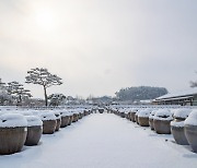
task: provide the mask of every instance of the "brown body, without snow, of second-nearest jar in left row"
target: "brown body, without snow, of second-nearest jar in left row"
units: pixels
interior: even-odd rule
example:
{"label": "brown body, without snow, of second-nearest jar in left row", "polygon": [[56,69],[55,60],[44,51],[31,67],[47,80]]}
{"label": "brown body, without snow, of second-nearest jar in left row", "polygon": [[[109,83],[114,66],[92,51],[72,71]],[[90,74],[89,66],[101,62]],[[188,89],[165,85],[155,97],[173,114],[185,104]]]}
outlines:
{"label": "brown body, without snow, of second-nearest jar in left row", "polygon": [[27,146],[37,145],[42,137],[42,133],[43,133],[42,125],[27,127],[25,145]]}

